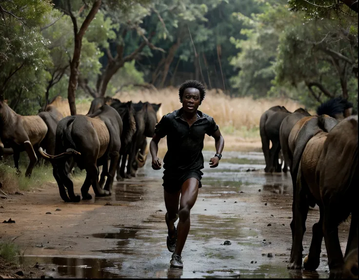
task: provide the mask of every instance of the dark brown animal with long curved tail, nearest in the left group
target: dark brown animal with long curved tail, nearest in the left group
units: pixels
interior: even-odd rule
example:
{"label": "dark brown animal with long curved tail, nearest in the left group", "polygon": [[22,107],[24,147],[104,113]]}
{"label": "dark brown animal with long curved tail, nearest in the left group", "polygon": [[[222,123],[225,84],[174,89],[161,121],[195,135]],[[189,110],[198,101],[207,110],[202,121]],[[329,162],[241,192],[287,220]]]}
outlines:
{"label": "dark brown animal with long curved tail, nearest in the left group", "polygon": [[[63,154],[75,150],[73,158],[77,166],[86,169],[86,179],[81,187],[83,200],[92,199],[88,193],[92,185],[97,197],[110,195],[119,159],[122,133],[122,120],[118,112],[108,105],[103,105],[92,115],[67,116],[60,120],[56,129],[55,153]],[[60,196],[65,202],[79,202],[80,196],[75,195],[73,183],[65,168],[67,158],[42,156],[52,161],[53,175],[58,183]],[[110,167],[108,168],[108,161]],[[99,166],[103,166],[99,183]],[[101,185],[107,180],[104,189]],[[67,188],[67,193],[66,190]]]}

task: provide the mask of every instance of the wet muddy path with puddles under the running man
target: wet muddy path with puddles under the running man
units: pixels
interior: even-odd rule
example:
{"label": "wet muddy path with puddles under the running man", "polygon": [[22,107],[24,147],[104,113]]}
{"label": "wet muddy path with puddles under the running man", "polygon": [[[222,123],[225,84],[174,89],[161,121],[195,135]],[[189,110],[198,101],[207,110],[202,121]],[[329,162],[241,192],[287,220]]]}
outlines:
{"label": "wet muddy path with puddles under the running man", "polygon": [[[315,273],[287,270],[291,247],[290,174],[264,174],[261,152],[227,152],[209,168],[204,151],[202,188],[191,211],[183,270],[170,269],[161,177],[150,160],[137,178],[114,183],[109,198],[65,204],[56,184],[1,201],[2,238],[26,248],[20,262],[39,263],[61,278],[327,278],[324,242]],[[80,183],[76,190],[80,192]],[[50,212],[51,214],[46,214]],[[2,220],[3,220],[2,219]],[[319,209],[309,210],[303,247]],[[177,223],[176,223],[177,224]],[[349,223],[339,227],[342,250]],[[229,245],[223,245],[229,241]]]}

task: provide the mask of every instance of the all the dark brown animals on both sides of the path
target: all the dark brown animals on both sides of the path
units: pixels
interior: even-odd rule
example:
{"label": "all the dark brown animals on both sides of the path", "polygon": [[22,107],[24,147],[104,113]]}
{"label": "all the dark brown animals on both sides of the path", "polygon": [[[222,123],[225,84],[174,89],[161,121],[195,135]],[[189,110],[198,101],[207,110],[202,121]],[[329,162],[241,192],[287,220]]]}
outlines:
{"label": "all the dark brown animals on both sides of the path", "polygon": [[[91,185],[97,197],[111,195],[116,171],[120,181],[135,176],[136,170],[144,165],[146,137],[154,135],[160,106],[99,97],[92,101],[86,115],[61,113],[56,102],[51,102],[36,116],[21,116],[0,101],[0,156],[12,154],[15,168],[20,172],[20,152],[26,151],[30,163],[25,176],[31,176],[38,158],[47,159],[65,202],[80,201],[69,177],[75,165],[86,170],[81,187],[83,200],[92,198],[88,193]],[[260,118],[264,171],[281,172],[281,152],[283,171],[289,167],[292,176],[290,269],[302,268],[302,239],[308,209],[318,205],[320,218],[313,225],[312,242],[303,267],[318,268],[324,237],[331,273],[342,275],[344,267],[346,277],[358,278],[358,115],[352,114],[351,107],[345,99],[335,98],[322,104],[317,109],[318,115],[301,108],[289,112],[283,106],[275,106]],[[338,225],[350,214],[344,261]]]}

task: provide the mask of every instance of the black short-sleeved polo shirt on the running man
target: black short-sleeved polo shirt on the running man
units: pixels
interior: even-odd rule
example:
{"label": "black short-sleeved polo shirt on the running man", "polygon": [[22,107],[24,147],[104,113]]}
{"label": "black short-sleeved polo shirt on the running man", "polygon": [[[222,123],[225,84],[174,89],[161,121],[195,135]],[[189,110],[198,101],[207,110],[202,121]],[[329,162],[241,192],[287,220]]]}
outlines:
{"label": "black short-sleeved polo shirt on the running man", "polygon": [[218,130],[214,119],[197,111],[198,118],[190,127],[181,118],[183,108],[168,113],[156,125],[156,135],[167,135],[167,153],[163,159],[163,168],[173,172],[186,173],[203,168],[204,134],[212,136]]}

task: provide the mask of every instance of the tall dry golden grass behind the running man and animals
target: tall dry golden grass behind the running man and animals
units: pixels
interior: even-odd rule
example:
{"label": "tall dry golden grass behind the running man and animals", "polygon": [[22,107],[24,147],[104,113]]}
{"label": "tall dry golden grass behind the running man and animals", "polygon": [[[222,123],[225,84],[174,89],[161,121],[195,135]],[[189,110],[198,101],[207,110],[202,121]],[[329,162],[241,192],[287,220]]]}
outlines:
{"label": "tall dry golden grass behind the running man and animals", "polygon": [[[145,102],[161,103],[158,118],[166,113],[180,109],[181,104],[178,96],[178,89],[168,87],[162,90],[132,90],[116,93],[114,98],[122,102]],[[78,114],[86,114],[90,109],[92,98],[78,99],[76,108]],[[65,115],[70,115],[67,99],[58,98],[54,103]],[[234,97],[225,95],[221,90],[207,91],[199,110],[212,116],[220,127],[222,134],[233,142],[259,142],[259,119],[263,112],[273,106],[284,106],[288,111],[293,112],[299,107],[304,107],[298,102],[285,98],[260,98]],[[310,112],[314,113],[314,112]],[[232,138],[231,138],[232,137]],[[206,137],[206,141],[209,140]],[[210,140],[211,141],[211,140]],[[227,142],[228,143],[228,142]],[[212,143],[210,144],[212,146]],[[259,145],[259,144],[257,144]]]}

